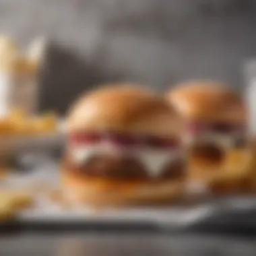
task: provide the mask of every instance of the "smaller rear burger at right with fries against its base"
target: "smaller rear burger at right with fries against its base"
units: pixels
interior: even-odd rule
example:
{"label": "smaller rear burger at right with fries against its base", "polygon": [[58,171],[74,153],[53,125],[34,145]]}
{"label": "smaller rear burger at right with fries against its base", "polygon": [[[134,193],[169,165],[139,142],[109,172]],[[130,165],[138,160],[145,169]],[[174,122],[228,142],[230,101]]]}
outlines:
{"label": "smaller rear burger at right with fries against its base", "polygon": [[197,81],[170,90],[167,100],[184,119],[191,188],[247,191],[251,155],[241,96],[224,84]]}

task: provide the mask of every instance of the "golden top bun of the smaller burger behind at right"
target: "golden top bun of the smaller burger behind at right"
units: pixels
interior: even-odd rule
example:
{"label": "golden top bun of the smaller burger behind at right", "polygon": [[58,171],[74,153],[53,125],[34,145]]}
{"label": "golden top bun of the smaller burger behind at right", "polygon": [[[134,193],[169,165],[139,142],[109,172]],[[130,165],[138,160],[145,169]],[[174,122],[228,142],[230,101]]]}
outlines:
{"label": "golden top bun of the smaller burger behind at right", "polygon": [[242,98],[225,84],[192,81],[179,84],[166,98],[186,119],[245,122],[247,111]]}

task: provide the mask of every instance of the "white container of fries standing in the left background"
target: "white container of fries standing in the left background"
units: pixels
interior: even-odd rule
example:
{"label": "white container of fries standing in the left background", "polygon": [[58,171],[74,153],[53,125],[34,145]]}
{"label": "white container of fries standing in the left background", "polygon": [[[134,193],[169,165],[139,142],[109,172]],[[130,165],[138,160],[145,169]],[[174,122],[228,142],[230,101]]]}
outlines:
{"label": "white container of fries standing in the left background", "polygon": [[28,53],[8,36],[0,38],[0,116],[12,108],[34,115],[38,108],[38,73],[44,56],[41,38],[32,42]]}

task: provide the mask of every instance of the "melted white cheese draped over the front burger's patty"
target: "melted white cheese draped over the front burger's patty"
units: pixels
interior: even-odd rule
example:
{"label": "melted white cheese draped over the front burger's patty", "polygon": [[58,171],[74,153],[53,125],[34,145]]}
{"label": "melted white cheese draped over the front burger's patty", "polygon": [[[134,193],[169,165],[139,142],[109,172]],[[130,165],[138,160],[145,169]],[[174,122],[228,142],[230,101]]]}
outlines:
{"label": "melted white cheese draped over the front burger's patty", "polygon": [[104,143],[80,146],[72,150],[73,160],[78,165],[86,162],[96,154],[129,154],[129,156],[133,156],[135,159],[139,160],[152,177],[158,176],[166,164],[180,157],[177,150],[153,150],[146,147],[125,148],[121,150],[120,148],[115,148],[110,144]]}

